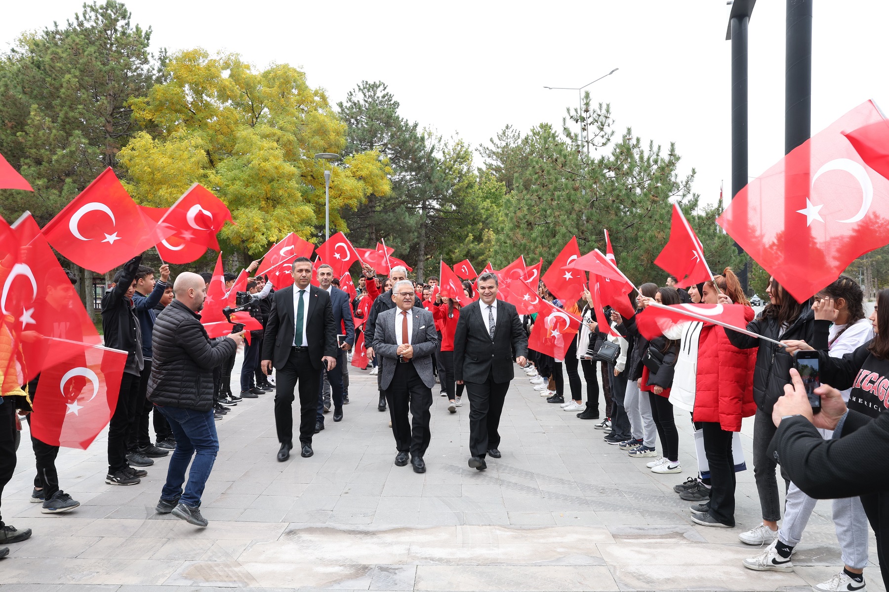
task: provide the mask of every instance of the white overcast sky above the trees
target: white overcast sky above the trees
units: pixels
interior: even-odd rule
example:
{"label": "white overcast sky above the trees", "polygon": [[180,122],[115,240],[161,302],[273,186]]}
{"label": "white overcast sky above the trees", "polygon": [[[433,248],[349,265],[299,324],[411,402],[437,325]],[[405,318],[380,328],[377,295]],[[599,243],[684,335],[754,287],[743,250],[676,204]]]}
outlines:
{"label": "white overcast sky above the trees", "polygon": [[[69,19],[81,2],[8,3],[0,49],[21,31]],[[252,2],[129,0],[155,48],[236,51],[258,67],[289,63],[332,103],[361,80],[382,80],[404,117],[478,146],[507,123],[561,129],[576,87],[611,102],[617,136],[677,143],[683,174],[715,201],[731,185],[730,51],[725,0],[541,2]],[[749,174],[784,146],[784,6],[760,0],[749,36]],[[815,3],[813,133],[866,99],[889,109],[889,3]],[[883,41],[880,41],[880,40]],[[481,160],[477,159],[477,164]]]}

